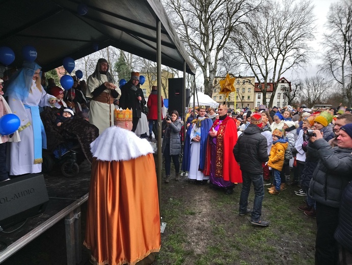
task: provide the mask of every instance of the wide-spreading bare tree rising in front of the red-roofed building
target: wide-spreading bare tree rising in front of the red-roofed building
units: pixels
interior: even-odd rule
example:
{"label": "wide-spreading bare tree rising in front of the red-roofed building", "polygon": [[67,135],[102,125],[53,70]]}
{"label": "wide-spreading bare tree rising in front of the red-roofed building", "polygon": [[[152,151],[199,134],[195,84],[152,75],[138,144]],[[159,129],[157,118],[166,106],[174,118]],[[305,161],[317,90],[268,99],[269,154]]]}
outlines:
{"label": "wide-spreading bare tree rising in front of the red-roofed building", "polygon": [[268,0],[258,12],[248,14],[247,23],[233,32],[233,52],[255,75],[263,93],[263,104],[266,105],[269,79],[274,85],[269,100],[272,106],[282,75],[307,63],[312,51],[307,43],[314,39],[313,23],[313,6],[309,0]]}

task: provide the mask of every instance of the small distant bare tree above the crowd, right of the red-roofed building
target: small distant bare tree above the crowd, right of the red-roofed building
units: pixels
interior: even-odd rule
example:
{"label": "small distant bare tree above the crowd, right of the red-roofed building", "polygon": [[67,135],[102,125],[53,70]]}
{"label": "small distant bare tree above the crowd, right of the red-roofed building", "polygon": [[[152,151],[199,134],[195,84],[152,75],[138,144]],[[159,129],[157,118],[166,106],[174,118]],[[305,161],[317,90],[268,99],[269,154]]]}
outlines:
{"label": "small distant bare tree above the crowd, right of the red-roofed building", "polygon": [[309,108],[315,104],[326,103],[329,98],[331,81],[326,81],[321,75],[306,77],[300,86],[301,101],[306,102]]}

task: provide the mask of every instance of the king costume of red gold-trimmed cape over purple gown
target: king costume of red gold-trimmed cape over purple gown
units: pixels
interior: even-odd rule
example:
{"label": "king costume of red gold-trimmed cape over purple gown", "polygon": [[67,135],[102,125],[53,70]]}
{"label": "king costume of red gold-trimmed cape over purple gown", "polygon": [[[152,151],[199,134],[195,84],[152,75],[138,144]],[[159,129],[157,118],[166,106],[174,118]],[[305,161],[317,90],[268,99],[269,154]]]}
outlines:
{"label": "king costume of red gold-trimmed cape over purple gown", "polygon": [[204,175],[210,182],[222,188],[230,188],[242,182],[241,170],[232,150],[237,142],[236,122],[230,116],[216,119],[210,130],[218,131],[216,137],[208,136]]}

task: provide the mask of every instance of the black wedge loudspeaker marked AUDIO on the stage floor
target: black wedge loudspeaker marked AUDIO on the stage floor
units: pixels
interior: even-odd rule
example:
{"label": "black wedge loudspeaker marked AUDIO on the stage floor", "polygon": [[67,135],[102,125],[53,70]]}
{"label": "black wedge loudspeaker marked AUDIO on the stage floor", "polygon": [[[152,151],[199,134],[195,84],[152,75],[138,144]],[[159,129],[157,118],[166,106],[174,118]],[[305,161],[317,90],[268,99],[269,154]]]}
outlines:
{"label": "black wedge loudspeaker marked AUDIO on the stage floor", "polygon": [[0,226],[7,228],[44,212],[49,201],[42,174],[0,182]]}

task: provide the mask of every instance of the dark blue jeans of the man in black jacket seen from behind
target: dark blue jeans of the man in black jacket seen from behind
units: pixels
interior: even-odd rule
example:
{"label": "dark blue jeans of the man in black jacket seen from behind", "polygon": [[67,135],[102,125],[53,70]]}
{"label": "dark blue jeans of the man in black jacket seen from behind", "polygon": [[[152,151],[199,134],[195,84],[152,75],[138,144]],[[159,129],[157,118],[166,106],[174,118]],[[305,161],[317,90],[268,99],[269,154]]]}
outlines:
{"label": "dark blue jeans of the man in black jacket seen from behind", "polygon": [[242,171],[242,191],[239,198],[239,213],[246,213],[248,205],[248,195],[251,190],[251,183],[254,186],[254,202],[252,211],[252,221],[259,221],[261,216],[261,205],[264,198],[263,174],[251,174]]}

